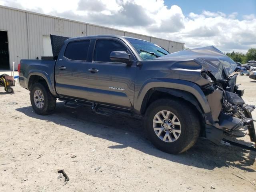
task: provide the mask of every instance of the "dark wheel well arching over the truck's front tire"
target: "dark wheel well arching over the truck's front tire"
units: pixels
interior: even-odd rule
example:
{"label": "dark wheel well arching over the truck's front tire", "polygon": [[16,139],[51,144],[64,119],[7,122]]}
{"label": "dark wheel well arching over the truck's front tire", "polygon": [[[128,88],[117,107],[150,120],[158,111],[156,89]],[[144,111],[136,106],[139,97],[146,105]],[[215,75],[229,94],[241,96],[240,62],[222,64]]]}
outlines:
{"label": "dark wheel well arching over the truck's front tire", "polygon": [[171,88],[152,88],[148,90],[148,92],[146,93],[146,96],[144,97],[144,100],[142,102],[142,107],[140,110],[141,114],[144,115],[148,106],[155,100],[158,100],[161,98],[183,100],[184,102],[186,102],[186,104],[190,106],[198,114],[198,117],[200,118],[200,122],[201,122],[200,135],[204,136],[205,134],[204,112],[198,100],[196,99],[196,97],[189,92],[186,92],[183,90],[171,89]]}

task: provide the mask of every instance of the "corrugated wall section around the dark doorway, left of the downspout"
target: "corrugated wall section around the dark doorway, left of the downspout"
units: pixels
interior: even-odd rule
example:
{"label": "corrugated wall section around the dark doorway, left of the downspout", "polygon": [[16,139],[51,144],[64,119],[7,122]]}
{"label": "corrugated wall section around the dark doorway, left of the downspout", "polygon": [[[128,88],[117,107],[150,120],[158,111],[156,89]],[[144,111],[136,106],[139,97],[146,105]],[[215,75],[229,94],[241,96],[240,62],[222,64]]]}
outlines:
{"label": "corrugated wall section around the dark doorway, left of the downspout", "polygon": [[0,7],[0,30],[7,31],[10,66],[28,58],[26,13]]}

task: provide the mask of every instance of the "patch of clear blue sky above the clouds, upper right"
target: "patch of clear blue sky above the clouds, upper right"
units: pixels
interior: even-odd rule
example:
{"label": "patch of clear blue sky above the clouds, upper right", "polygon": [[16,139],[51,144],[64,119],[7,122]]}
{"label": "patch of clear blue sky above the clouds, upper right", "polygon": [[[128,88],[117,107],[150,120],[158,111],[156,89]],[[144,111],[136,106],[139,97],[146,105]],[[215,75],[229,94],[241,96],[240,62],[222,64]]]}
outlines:
{"label": "patch of clear blue sky above the clouds, upper right", "polygon": [[225,14],[237,12],[237,18],[241,20],[243,15],[256,14],[256,0],[165,0],[164,4],[168,8],[178,5],[185,15],[190,12],[200,14],[204,10]]}

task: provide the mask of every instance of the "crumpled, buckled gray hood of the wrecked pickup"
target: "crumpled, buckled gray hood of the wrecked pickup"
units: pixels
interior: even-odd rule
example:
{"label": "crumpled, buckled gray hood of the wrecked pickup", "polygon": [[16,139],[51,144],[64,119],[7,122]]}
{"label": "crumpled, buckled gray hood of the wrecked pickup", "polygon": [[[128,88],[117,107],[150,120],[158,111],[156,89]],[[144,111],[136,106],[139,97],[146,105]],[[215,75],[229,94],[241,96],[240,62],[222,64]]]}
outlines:
{"label": "crumpled, buckled gray hood of the wrecked pickup", "polygon": [[228,78],[236,69],[237,64],[223,52],[214,46],[201,47],[174,52],[154,60],[194,60],[202,66],[202,70],[208,70],[218,80]]}

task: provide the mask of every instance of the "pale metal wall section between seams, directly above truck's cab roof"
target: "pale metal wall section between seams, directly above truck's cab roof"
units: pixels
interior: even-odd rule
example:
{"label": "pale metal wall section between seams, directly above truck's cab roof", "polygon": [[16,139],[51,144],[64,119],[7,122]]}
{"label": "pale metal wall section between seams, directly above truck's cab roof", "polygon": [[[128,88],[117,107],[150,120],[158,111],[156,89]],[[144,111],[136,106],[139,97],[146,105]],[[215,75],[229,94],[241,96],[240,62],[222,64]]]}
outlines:
{"label": "pale metal wall section between seams, directly above truck's cab roof", "polygon": [[124,32],[99,26],[87,25],[87,35],[120,35],[124,36]]}

